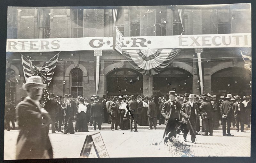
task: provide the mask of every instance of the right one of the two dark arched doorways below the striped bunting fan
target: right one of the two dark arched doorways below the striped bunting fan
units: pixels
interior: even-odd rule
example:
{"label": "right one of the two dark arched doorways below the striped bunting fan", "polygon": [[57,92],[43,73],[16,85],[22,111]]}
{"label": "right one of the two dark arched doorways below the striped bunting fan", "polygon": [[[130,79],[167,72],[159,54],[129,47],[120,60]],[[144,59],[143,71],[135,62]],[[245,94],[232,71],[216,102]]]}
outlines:
{"label": "right one of the two dark arched doorways below the striped bunting fan", "polygon": [[157,97],[167,95],[171,90],[175,90],[177,94],[192,92],[193,76],[184,69],[170,68],[154,75],[153,79],[154,94]]}

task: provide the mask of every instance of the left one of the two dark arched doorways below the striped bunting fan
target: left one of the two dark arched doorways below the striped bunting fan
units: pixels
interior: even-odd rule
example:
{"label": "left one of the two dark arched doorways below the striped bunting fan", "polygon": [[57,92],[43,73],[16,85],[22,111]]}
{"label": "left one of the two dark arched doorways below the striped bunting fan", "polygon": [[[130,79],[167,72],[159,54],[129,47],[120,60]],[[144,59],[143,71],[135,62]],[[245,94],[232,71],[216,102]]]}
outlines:
{"label": "left one of the two dark arched doorways below the striped bunting fan", "polygon": [[121,68],[107,75],[107,95],[141,95],[143,87],[143,76],[139,72]]}

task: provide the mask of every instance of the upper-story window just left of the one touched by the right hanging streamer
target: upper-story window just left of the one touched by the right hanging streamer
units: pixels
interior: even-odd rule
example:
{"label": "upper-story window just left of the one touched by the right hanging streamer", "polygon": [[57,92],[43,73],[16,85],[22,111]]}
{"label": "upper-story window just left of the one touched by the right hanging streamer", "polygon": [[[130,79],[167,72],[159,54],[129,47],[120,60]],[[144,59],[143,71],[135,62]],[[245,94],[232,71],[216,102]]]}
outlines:
{"label": "upper-story window just left of the one touched by the right hanging streamer", "polygon": [[156,36],[166,35],[166,10],[156,10]]}

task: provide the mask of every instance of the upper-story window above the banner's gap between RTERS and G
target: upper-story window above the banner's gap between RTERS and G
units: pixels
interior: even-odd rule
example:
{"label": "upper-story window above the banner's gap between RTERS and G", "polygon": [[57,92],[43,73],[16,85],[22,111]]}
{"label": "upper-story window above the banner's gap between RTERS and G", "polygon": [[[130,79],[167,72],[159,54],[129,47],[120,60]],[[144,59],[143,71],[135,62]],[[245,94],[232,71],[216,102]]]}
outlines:
{"label": "upper-story window above the banner's gap between RTERS and G", "polygon": [[71,37],[83,37],[83,9],[71,10]]}

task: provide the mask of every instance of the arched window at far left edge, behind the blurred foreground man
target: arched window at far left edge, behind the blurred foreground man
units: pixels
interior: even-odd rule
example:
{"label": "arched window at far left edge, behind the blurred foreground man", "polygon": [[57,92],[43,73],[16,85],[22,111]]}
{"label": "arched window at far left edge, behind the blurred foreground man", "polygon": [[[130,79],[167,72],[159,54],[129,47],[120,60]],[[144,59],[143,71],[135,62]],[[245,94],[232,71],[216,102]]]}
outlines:
{"label": "arched window at far left edge, behind the blurred foreground man", "polygon": [[6,69],[5,76],[5,97],[8,97],[11,101],[14,101],[16,95],[14,70]]}

